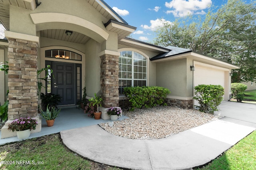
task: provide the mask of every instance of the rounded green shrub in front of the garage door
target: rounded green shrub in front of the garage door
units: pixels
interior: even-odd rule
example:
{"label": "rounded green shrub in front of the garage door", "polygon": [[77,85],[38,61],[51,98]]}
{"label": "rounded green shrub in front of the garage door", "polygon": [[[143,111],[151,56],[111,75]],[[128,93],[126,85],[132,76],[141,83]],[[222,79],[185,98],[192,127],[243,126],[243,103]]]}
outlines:
{"label": "rounded green shrub in front of the garage door", "polygon": [[204,113],[214,113],[218,111],[218,106],[222,101],[224,95],[224,88],[220,85],[205,85],[201,84],[195,86],[195,97],[193,99],[198,100],[200,106],[196,106],[200,111]]}

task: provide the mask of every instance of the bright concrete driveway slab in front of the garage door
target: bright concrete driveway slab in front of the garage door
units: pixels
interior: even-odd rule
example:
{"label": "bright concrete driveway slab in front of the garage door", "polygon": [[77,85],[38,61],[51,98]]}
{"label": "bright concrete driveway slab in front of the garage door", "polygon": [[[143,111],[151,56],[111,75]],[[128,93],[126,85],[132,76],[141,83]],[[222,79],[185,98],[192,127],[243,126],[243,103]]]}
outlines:
{"label": "bright concrete driveway slab in front of the garage door", "polygon": [[[231,121],[241,125],[256,127],[256,105],[238,102],[222,102],[220,113],[225,117],[222,120]],[[244,121],[244,122],[243,122]]]}

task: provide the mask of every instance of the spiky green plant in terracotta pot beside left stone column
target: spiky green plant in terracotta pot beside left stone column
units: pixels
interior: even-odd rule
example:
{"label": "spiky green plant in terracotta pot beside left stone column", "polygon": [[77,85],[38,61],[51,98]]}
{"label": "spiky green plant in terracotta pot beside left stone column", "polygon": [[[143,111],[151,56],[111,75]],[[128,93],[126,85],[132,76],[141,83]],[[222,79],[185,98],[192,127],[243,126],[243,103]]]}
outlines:
{"label": "spiky green plant in terracotta pot beside left stone column", "polygon": [[57,109],[54,106],[49,107],[49,104],[46,107],[46,111],[41,109],[41,116],[46,120],[48,127],[53,126],[55,118],[58,117],[59,113],[60,109]]}

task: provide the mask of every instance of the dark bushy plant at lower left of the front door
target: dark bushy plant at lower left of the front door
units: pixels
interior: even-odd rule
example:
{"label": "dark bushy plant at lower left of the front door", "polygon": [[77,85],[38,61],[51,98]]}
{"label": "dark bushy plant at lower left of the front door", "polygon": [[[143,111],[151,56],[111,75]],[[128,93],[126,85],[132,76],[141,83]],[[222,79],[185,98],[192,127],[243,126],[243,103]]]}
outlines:
{"label": "dark bushy plant at lower left of the front door", "polygon": [[42,110],[46,111],[46,106],[50,107],[56,107],[59,102],[61,102],[61,97],[59,94],[52,94],[52,93],[41,93],[41,99],[42,99]]}

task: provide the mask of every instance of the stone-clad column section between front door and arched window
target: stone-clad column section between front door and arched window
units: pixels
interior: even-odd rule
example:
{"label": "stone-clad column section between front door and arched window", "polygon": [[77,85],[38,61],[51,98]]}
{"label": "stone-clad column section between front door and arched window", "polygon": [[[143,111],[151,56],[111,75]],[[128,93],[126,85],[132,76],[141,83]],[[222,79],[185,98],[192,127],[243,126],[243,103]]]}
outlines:
{"label": "stone-clad column section between front door and arched window", "polygon": [[101,57],[100,86],[103,98],[103,107],[118,106],[118,58],[114,55],[102,55]]}

